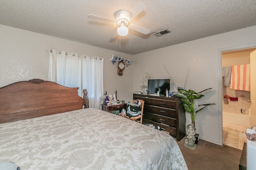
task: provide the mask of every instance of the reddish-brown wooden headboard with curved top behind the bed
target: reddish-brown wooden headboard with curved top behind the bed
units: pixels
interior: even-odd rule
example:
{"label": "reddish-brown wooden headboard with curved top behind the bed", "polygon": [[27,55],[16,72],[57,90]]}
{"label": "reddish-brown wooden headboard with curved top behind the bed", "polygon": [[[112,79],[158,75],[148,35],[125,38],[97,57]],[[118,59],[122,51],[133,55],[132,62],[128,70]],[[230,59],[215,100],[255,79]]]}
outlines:
{"label": "reddish-brown wooden headboard with curved top behind the bed", "polygon": [[33,79],[0,88],[0,123],[82,109],[79,88]]}

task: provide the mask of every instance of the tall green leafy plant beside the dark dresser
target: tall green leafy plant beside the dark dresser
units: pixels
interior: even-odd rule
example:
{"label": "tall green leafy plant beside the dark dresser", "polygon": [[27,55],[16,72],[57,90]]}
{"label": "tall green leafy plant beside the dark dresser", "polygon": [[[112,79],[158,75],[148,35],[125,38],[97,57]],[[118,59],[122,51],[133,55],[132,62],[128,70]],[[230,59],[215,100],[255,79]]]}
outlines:
{"label": "tall green leafy plant beside the dark dresser", "polygon": [[178,96],[181,98],[183,102],[184,109],[187,113],[190,113],[190,117],[192,120],[192,124],[195,126],[195,117],[196,114],[204,109],[207,106],[215,105],[215,104],[200,104],[197,107],[195,107],[195,101],[202,98],[204,95],[202,95],[202,92],[205,92],[206,90],[210,90],[212,88],[205,89],[201,92],[195,92],[194,90],[184,90],[184,89],[178,89],[178,94],[175,94],[175,96]]}

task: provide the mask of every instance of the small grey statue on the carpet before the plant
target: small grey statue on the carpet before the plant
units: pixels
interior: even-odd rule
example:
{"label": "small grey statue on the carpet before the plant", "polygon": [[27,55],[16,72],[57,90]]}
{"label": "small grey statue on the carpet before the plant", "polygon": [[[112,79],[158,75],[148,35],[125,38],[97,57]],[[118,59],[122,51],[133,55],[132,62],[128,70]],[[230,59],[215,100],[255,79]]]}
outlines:
{"label": "small grey statue on the carpet before the plant", "polygon": [[195,144],[196,128],[192,124],[188,124],[187,127],[188,127],[187,139],[185,139],[184,146],[190,149],[196,149],[196,144]]}

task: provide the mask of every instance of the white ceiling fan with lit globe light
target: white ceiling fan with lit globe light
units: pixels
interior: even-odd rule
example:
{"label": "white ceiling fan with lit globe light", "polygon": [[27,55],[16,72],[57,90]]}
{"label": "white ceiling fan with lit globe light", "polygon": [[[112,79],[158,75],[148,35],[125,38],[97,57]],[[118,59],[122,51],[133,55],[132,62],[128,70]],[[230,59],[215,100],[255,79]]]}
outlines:
{"label": "white ceiling fan with lit globe light", "polygon": [[138,25],[134,25],[131,21],[133,18],[138,16],[138,14],[140,14],[145,8],[146,6],[142,2],[137,2],[130,11],[126,11],[126,10],[117,11],[115,13],[116,20],[112,20],[110,18],[105,18],[102,16],[96,16],[92,14],[88,15],[88,18],[115,23],[116,27],[118,28],[117,28],[117,31],[114,30],[110,34],[109,36],[110,38],[116,37],[117,34],[121,36],[126,36],[129,31],[128,28],[146,35],[150,33],[150,29],[147,29]]}

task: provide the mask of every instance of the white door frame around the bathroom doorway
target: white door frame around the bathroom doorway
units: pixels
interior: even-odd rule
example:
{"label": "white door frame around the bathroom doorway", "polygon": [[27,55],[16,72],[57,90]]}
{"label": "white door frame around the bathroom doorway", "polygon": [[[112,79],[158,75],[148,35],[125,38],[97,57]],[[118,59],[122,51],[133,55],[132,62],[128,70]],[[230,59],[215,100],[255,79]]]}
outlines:
{"label": "white door frame around the bathroom doorway", "polygon": [[241,45],[236,47],[229,47],[224,49],[218,49],[218,115],[219,115],[219,144],[223,145],[222,139],[222,52],[225,51],[234,51],[240,49],[248,49],[256,47],[256,43],[248,44],[248,45]]}

